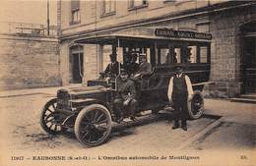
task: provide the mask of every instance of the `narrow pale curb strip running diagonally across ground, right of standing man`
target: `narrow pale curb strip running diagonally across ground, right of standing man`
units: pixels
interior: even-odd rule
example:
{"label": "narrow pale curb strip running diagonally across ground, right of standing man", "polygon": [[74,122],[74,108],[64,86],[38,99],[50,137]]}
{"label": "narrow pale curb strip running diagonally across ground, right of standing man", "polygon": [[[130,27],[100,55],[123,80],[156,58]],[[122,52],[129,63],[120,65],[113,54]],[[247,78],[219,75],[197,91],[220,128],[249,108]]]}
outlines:
{"label": "narrow pale curb strip running diagonally across ground, right of standing man", "polygon": [[219,120],[215,121],[214,123],[207,126],[204,130],[196,134],[194,137],[189,138],[188,140],[184,141],[180,146],[176,148],[176,150],[183,150],[185,147],[187,147],[189,144],[191,144],[193,141],[197,140],[198,138],[203,137],[206,133],[211,131],[213,128],[217,127],[221,124],[223,118],[220,118]]}

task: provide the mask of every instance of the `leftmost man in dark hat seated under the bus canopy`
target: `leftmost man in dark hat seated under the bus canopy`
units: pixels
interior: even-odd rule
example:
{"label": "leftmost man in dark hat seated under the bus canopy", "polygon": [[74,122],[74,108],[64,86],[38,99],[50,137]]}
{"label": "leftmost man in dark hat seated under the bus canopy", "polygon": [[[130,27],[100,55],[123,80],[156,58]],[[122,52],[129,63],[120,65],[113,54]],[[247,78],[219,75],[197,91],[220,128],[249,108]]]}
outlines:
{"label": "leftmost man in dark hat seated under the bus canopy", "polygon": [[119,75],[120,63],[116,61],[115,54],[110,54],[109,58],[111,62],[107,65],[103,74],[105,77],[115,78]]}

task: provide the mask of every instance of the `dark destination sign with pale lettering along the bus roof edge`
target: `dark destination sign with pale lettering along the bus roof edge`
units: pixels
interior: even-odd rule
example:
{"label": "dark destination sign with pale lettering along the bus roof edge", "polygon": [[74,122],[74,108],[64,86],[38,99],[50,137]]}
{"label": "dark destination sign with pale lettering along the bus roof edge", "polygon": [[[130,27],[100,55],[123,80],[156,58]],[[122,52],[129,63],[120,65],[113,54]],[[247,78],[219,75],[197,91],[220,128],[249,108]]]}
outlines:
{"label": "dark destination sign with pale lettering along the bus roof edge", "polygon": [[171,28],[156,28],[155,34],[163,37],[212,39],[212,34],[185,30],[173,30]]}

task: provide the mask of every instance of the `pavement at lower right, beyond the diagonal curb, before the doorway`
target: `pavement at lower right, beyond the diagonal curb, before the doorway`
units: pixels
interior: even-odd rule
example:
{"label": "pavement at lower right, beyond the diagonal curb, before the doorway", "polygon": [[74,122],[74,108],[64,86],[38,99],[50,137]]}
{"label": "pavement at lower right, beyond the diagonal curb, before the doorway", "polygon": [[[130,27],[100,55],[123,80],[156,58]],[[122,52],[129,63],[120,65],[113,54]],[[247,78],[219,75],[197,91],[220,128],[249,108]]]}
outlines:
{"label": "pavement at lower right, beyond the diagonal curb, before the doorway", "polygon": [[255,104],[206,99],[205,109],[206,114],[222,116],[220,124],[185,149],[255,150]]}

